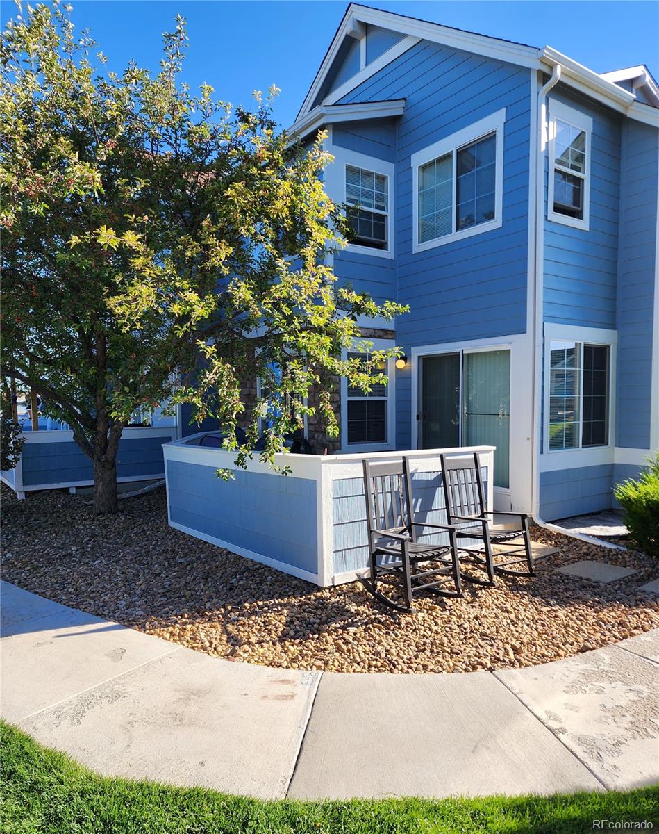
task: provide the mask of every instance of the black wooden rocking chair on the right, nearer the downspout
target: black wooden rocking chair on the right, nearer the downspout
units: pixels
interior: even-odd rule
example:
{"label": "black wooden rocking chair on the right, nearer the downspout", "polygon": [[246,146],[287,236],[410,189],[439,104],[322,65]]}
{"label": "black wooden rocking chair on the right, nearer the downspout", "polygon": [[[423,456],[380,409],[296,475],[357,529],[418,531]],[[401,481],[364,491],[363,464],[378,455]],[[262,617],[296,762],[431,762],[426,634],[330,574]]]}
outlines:
{"label": "black wooden rocking chair on the right, nearer the downspout", "polygon": [[[440,455],[442,460],[442,480],[447,506],[447,521],[450,525],[467,525],[457,527],[456,536],[460,550],[466,551],[473,560],[485,567],[489,582],[494,584],[494,575],[534,576],[531,536],[529,535],[529,516],[526,513],[499,512],[486,510],[483,498],[481,463],[478,453],[473,455]],[[495,515],[512,516],[519,519],[519,525],[508,530],[493,527]],[[471,524],[470,524],[471,522]],[[516,539],[522,537],[523,544]],[[482,549],[464,547],[461,539],[482,542]],[[495,563],[492,545],[505,548],[503,554],[510,561]],[[515,565],[523,565],[515,568]],[[467,579],[466,575],[462,575]]]}

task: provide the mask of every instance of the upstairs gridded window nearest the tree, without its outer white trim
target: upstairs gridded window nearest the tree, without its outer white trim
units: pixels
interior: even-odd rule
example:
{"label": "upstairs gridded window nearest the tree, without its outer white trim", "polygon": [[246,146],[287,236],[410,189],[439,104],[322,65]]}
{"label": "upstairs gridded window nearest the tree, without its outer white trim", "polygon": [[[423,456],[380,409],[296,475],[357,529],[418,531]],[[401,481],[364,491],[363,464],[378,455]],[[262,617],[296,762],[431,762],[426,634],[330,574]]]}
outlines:
{"label": "upstairs gridded window nearest the tree, without its outer white trim", "polygon": [[383,173],[346,165],[346,203],[351,243],[387,249],[389,181]]}

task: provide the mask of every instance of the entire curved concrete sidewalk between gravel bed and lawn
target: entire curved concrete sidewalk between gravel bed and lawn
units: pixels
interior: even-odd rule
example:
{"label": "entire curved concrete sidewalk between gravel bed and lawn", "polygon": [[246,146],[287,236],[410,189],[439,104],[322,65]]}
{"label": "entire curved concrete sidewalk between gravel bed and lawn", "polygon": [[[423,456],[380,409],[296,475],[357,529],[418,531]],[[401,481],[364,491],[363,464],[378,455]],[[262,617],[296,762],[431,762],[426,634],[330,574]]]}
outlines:
{"label": "entire curved concrete sidewalk between gravel bed and lawn", "polygon": [[2,717],[104,774],[304,799],[659,779],[659,630],[528,669],[322,674],[222,661],[0,591]]}

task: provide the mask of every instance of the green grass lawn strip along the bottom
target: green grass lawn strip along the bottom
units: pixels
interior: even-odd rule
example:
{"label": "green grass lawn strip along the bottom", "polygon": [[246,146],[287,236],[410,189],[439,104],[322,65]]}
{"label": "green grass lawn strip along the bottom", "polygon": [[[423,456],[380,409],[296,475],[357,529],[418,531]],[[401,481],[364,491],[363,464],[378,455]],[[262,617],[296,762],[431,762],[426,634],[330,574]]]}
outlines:
{"label": "green grass lawn strip along the bottom", "polygon": [[0,723],[0,739],[0,831],[7,834],[572,834],[593,831],[594,819],[659,826],[657,787],[441,801],[262,802],[97,776],[6,723]]}

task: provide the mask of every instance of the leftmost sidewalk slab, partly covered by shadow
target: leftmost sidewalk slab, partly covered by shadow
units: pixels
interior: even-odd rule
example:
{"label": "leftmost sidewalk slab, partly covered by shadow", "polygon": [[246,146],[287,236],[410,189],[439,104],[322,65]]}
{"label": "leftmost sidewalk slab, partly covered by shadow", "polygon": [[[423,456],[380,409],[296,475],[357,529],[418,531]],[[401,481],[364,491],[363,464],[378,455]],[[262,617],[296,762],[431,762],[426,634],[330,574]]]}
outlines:
{"label": "leftmost sidewalk slab, partly covered by shadow", "polygon": [[19,630],[2,640],[2,716],[7,721],[30,716],[179,648],[82,611],[59,608],[14,624]]}

